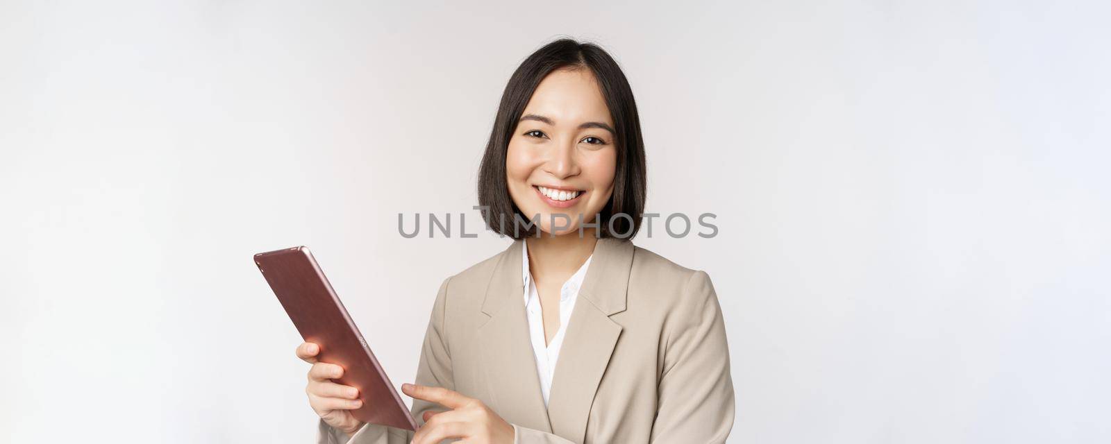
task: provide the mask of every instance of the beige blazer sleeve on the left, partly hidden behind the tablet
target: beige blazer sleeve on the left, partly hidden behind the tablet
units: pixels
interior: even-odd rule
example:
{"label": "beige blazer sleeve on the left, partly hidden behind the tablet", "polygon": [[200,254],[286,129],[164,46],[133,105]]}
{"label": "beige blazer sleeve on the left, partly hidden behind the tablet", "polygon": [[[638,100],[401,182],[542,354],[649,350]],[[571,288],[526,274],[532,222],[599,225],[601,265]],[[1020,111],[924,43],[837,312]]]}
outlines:
{"label": "beige blazer sleeve on the left, partly hidden behind the tablet", "polygon": [[[451,354],[444,336],[444,311],[448,304],[449,281],[451,278],[443,280],[443,283],[440,284],[436,302],[432,304],[432,314],[424,332],[424,344],[421,347],[414,382],[419,385],[456,390],[451,373]],[[413,418],[417,420],[417,425],[424,425],[424,412],[436,407],[438,406],[434,403],[413,400],[411,412]],[[363,424],[349,438],[347,434],[326,424],[323,420],[319,421],[317,434],[318,444],[408,444],[412,438],[412,431],[379,424]]]}

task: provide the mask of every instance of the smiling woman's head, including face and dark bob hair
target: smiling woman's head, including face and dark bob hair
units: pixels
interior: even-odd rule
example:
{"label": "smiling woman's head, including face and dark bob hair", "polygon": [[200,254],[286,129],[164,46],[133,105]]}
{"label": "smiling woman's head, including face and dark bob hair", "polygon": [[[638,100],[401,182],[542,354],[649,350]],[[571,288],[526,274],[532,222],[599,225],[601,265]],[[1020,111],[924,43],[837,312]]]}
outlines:
{"label": "smiling woman's head, including face and dark bob hair", "polygon": [[522,239],[593,221],[599,236],[632,238],[645,182],[637,102],[613,58],[560,40],[521,63],[479,171],[479,204],[491,230]]}

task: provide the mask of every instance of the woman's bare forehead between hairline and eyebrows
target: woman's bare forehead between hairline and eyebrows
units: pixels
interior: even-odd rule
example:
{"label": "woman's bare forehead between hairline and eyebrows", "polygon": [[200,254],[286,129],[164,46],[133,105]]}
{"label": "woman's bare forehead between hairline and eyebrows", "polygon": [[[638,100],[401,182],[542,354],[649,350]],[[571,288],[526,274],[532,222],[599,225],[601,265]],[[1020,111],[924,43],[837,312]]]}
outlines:
{"label": "woman's bare forehead between hairline and eyebrows", "polygon": [[560,69],[540,81],[522,114],[539,114],[557,125],[613,124],[598,79],[589,69]]}

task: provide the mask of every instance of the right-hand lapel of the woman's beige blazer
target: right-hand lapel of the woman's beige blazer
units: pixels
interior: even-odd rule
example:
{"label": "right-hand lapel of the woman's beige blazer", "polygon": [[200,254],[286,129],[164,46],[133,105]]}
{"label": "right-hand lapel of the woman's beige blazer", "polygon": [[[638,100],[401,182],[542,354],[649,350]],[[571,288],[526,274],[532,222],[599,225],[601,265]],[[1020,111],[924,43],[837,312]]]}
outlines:
{"label": "right-hand lapel of the woman's beige blazer", "polygon": [[[598,240],[563,336],[548,397],[548,416],[552,433],[577,443],[585,438],[594,393],[621,335],[621,325],[609,316],[625,310],[632,255],[632,242]],[[520,316],[524,316],[523,307]],[[542,402],[541,397],[541,406]]]}

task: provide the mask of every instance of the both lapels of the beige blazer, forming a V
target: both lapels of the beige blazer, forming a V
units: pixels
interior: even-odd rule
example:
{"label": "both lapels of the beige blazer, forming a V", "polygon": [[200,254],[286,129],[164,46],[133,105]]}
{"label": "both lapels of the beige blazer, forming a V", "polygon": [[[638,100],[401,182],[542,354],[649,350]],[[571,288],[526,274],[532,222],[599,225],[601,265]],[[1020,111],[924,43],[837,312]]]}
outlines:
{"label": "both lapels of the beige blazer, forming a V", "polygon": [[552,387],[544,406],[540,376],[521,297],[521,242],[500,254],[482,300],[490,316],[479,327],[487,393],[498,414],[513,424],[554,433],[572,442],[585,438],[590,406],[622,327],[609,316],[625,310],[633,245],[599,239],[563,336]]}

